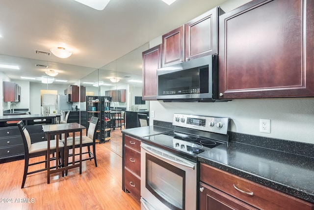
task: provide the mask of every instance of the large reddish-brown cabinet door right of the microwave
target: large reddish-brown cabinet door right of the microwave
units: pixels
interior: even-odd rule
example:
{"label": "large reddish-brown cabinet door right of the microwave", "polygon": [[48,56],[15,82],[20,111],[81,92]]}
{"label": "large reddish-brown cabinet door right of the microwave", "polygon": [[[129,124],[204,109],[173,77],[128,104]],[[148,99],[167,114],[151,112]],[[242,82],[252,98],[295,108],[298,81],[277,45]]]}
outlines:
{"label": "large reddish-brown cabinet door right of the microwave", "polygon": [[220,98],[314,96],[314,1],[253,0],[220,16]]}

